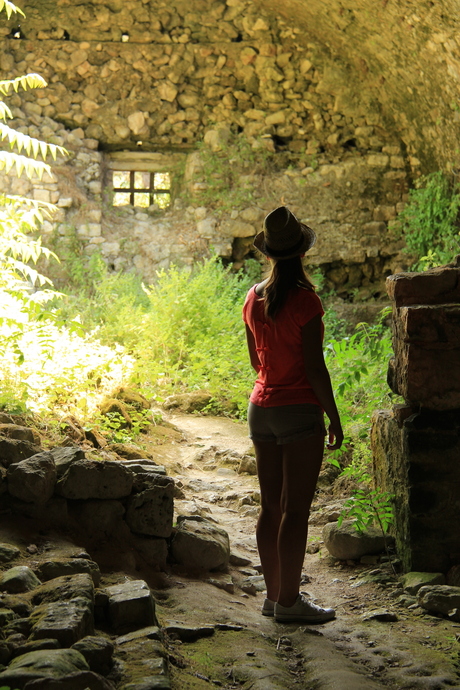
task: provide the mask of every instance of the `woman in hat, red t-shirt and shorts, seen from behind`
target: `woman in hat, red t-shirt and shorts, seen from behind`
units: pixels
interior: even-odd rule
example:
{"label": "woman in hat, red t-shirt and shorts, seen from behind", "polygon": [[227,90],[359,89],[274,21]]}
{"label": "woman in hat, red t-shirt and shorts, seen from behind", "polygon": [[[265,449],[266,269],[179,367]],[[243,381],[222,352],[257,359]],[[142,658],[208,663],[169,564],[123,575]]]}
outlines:
{"label": "woman in hat, red t-shirt and shorts, seen from behind", "polygon": [[257,545],[267,587],[262,614],[280,622],[320,623],[335,617],[299,593],[308,518],[324,451],[343,432],[323,357],[321,301],[302,266],[315,243],[311,228],[286,206],[272,211],[254,245],[270,275],[246,297],[251,364],[257,372],[248,422],[260,483]]}

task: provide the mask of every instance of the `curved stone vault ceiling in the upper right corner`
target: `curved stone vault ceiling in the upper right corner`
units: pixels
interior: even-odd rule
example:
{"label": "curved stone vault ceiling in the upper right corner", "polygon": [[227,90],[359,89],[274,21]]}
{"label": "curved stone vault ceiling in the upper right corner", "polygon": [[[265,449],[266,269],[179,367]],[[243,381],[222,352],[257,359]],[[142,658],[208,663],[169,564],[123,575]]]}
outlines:
{"label": "curved stone vault ceiling in the upper right corner", "polygon": [[337,105],[378,109],[424,171],[458,165],[458,0],[254,2],[291,26],[299,44],[314,44]]}

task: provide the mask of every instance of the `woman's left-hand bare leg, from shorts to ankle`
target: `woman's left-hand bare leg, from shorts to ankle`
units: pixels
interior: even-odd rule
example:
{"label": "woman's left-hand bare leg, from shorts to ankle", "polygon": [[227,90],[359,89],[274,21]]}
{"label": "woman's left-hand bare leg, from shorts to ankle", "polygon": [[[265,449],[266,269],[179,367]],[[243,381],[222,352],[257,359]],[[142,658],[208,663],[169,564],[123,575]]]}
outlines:
{"label": "woman's left-hand bare leg, from shorts to ankle", "polygon": [[260,441],[254,441],[254,448],[256,451],[261,503],[256,528],[257,546],[267,587],[267,598],[276,601],[279,592],[277,542],[281,523],[283,450],[276,443]]}

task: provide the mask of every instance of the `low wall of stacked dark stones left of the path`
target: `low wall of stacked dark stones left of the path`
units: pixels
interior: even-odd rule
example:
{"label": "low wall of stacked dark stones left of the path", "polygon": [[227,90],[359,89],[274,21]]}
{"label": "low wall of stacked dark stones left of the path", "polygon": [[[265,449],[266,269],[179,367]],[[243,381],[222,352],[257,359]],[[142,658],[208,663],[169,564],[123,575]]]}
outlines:
{"label": "low wall of stacked dark stones left of the path", "polygon": [[[11,420],[0,424],[4,511],[70,530],[96,549],[115,539],[156,569],[163,569],[168,558],[193,569],[226,567],[230,544],[224,530],[197,515],[179,516],[173,527],[174,495],[180,495],[180,488],[163,466],[148,458],[113,460],[94,453],[88,458],[78,446],[43,451],[37,436]],[[8,553],[3,551],[3,558],[8,560]],[[91,574],[87,561],[74,561],[72,572],[77,565],[78,572]],[[67,573],[68,564],[44,563],[39,576]]]}

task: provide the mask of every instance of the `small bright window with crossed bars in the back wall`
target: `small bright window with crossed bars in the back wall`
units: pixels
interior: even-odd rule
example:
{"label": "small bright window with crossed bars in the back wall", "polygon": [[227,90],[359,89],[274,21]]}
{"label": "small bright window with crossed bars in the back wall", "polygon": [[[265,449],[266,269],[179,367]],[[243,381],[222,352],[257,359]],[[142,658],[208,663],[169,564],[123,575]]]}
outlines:
{"label": "small bright window with crossed bars in the back wall", "polygon": [[113,170],[113,205],[167,208],[171,204],[171,175],[165,172]]}

